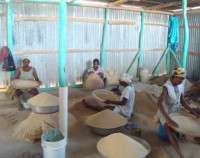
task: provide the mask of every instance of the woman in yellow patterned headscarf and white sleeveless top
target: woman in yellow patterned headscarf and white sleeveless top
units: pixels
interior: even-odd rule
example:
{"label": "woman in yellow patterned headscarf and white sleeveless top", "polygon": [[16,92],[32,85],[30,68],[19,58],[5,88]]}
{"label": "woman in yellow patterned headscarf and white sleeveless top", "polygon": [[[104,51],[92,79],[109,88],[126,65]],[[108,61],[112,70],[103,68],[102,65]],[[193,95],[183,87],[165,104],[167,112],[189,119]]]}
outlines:
{"label": "woman in yellow patterned headscarf and white sleeveless top", "polygon": [[183,158],[179,148],[174,127],[178,127],[169,114],[181,112],[181,106],[196,117],[199,117],[198,109],[192,109],[184,100],[184,79],[186,72],[182,68],[174,69],[171,78],[164,84],[162,94],[158,100],[158,117],[160,119],[162,129],[165,129],[169,141],[180,156]]}

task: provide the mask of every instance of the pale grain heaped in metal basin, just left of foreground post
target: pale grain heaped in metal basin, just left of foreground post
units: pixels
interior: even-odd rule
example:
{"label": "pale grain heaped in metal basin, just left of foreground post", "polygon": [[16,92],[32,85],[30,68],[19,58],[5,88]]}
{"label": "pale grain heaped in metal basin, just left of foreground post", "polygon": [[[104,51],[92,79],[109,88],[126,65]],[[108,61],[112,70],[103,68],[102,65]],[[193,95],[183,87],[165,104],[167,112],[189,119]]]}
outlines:
{"label": "pale grain heaped in metal basin, just left of foreground post", "polygon": [[58,97],[43,92],[29,99],[28,104],[42,107],[58,106]]}

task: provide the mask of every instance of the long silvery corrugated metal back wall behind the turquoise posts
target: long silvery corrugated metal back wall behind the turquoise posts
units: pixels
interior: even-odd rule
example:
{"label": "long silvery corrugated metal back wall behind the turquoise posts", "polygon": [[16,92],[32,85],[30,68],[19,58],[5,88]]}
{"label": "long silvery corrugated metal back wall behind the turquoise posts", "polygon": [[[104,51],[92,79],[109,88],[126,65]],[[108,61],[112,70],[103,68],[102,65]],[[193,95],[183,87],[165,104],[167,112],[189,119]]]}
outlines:
{"label": "long silvery corrugated metal back wall behind the turquoise posts", "polygon": [[[70,17],[82,17],[104,20],[104,9],[88,7],[68,8]],[[44,86],[54,86],[57,83],[57,20],[21,20],[24,16],[58,16],[58,6],[55,4],[14,4],[14,48],[17,63],[24,57],[30,58],[36,67]],[[109,10],[109,20],[132,21],[134,25],[110,24],[108,26],[107,69],[113,69],[121,74],[126,71],[138,49],[140,31],[140,13]],[[167,44],[168,16],[145,13],[144,67],[150,72],[158,61]],[[68,46],[73,49],[67,58],[67,75],[73,84],[86,69],[86,63],[99,58],[103,23],[69,21]],[[84,51],[80,51],[85,49]],[[119,51],[119,49],[121,51]],[[124,50],[124,51],[123,51]],[[48,51],[48,52],[46,52]],[[136,65],[132,74],[136,74]],[[160,73],[165,72],[162,63]]]}

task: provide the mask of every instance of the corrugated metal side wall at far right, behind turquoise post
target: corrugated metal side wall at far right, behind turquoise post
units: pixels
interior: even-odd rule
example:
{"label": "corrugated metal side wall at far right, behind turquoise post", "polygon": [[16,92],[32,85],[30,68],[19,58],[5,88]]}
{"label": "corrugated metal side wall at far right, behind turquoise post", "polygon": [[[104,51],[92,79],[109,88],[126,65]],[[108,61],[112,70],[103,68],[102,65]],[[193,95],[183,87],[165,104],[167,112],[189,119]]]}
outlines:
{"label": "corrugated metal side wall at far right, behind turquoise post", "polygon": [[[181,26],[182,19],[180,18]],[[189,56],[187,65],[188,77],[194,80],[200,80],[200,13],[189,14],[188,23],[190,27],[189,36]],[[183,27],[181,27],[180,52],[183,44]]]}

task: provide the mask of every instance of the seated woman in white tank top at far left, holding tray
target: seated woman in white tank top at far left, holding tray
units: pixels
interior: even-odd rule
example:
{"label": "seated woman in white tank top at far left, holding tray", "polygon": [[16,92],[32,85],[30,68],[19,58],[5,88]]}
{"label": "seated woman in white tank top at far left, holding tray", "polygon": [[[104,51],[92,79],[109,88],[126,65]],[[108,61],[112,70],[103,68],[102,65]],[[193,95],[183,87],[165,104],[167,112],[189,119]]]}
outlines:
{"label": "seated woman in white tank top at far left, holding tray", "polygon": [[[22,63],[23,63],[22,67],[18,68],[16,71],[15,79],[35,80],[41,84],[35,68],[30,66],[30,60],[25,58],[23,59]],[[19,98],[22,101],[22,95],[24,93],[28,93],[31,97],[33,97],[37,95],[39,92],[37,88],[26,89],[26,90],[16,89],[15,97]]]}

